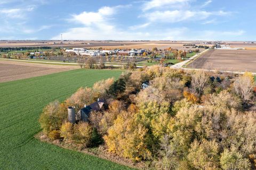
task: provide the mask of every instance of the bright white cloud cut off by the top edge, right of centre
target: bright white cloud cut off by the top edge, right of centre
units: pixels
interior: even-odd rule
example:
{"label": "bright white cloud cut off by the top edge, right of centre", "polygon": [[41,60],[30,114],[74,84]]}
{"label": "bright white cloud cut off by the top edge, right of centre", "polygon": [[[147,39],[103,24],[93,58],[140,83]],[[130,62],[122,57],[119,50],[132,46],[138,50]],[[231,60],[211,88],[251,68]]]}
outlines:
{"label": "bright white cloud cut off by the top edge, right of centre", "polygon": [[187,2],[190,2],[190,0],[151,0],[146,2],[142,9],[143,11],[147,11],[153,8],[160,8],[171,5],[177,7],[177,4],[185,5]]}

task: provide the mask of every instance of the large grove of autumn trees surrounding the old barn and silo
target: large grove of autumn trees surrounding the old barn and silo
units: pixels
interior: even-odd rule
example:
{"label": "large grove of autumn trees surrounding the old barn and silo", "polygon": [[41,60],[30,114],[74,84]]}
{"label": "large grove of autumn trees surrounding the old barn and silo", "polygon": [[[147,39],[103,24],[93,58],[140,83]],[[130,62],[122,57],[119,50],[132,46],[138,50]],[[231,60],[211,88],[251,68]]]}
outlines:
{"label": "large grove of autumn trees surrounding the old barn and silo", "polygon": [[[142,89],[142,84],[149,84]],[[256,164],[253,76],[151,66],[80,88],[45,107],[44,134],[63,145],[99,147],[145,169],[251,169]],[[108,108],[71,124],[68,106],[103,98]],[[66,143],[66,144],[65,144]]]}

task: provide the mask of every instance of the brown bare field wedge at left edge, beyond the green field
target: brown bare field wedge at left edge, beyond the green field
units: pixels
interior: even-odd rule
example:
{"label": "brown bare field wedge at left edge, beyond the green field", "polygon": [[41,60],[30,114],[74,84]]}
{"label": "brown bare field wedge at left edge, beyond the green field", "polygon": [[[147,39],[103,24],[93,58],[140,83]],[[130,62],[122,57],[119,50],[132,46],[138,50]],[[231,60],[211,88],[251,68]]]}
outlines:
{"label": "brown bare field wedge at left edge, beyond the green field", "polygon": [[36,64],[0,60],[0,82],[78,69],[78,66]]}

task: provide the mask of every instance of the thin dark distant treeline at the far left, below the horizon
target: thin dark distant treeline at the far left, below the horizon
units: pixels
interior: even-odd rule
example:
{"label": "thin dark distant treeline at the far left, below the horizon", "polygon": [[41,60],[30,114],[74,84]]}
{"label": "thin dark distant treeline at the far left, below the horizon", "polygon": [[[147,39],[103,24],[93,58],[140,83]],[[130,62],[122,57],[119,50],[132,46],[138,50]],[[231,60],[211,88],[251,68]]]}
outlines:
{"label": "thin dark distant treeline at the far left, below the horizon", "polygon": [[38,52],[39,50],[46,49],[60,49],[59,47],[0,47],[0,52],[10,52],[10,51],[31,51]]}

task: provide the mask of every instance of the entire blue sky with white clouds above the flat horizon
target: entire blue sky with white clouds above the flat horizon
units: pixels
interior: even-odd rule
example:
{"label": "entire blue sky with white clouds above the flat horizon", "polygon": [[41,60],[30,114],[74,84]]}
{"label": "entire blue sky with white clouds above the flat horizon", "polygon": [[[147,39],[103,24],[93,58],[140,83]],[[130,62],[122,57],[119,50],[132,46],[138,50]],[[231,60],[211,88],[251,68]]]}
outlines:
{"label": "entire blue sky with white clouds above the flat horizon", "polygon": [[256,40],[255,0],[0,0],[0,39]]}

